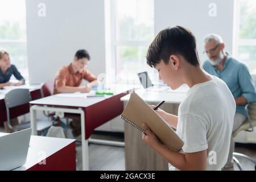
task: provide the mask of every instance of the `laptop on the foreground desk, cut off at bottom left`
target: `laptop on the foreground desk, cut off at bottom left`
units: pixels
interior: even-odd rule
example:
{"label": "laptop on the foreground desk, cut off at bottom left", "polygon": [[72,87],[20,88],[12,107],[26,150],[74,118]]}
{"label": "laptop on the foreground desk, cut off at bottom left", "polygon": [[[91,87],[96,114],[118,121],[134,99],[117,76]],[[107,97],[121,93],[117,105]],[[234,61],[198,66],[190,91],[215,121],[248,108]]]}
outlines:
{"label": "laptop on the foreground desk, cut off at bottom left", "polygon": [[27,160],[32,129],[25,129],[0,137],[0,171],[23,166]]}

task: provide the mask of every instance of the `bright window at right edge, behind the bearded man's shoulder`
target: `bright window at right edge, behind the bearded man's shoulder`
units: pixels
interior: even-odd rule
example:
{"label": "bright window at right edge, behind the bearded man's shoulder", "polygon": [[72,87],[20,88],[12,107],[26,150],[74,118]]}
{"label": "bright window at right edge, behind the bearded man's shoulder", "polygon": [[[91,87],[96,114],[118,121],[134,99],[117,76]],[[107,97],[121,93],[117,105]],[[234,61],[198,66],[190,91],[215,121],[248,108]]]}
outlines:
{"label": "bright window at right edge, behind the bearded man's shoulder", "polygon": [[256,1],[238,0],[236,17],[236,42],[234,56],[246,64],[251,74],[256,74]]}

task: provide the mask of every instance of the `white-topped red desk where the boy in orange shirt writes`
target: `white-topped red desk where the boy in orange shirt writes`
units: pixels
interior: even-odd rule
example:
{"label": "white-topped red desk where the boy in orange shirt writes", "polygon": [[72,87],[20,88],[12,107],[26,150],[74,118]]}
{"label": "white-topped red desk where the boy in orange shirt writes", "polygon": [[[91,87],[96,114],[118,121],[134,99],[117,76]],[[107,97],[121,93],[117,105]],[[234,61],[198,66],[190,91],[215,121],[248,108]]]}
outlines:
{"label": "white-topped red desk where the boy in orange shirt writes", "polygon": [[81,116],[82,169],[89,169],[88,139],[96,127],[110,121],[123,111],[120,98],[129,90],[127,86],[114,85],[114,95],[106,97],[59,97],[57,95],[31,101],[30,122],[32,134],[36,135],[36,111],[54,111],[59,113],[76,113]]}

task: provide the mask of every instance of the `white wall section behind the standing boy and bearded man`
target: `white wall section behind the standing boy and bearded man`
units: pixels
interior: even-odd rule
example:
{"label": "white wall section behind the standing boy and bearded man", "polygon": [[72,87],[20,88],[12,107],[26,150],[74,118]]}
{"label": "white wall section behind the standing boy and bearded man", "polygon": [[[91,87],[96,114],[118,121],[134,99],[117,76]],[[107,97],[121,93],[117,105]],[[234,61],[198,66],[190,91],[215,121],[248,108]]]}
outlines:
{"label": "white wall section behind the standing boy and bearded man", "polygon": [[[210,3],[216,4],[216,17],[208,14]],[[226,51],[232,53],[233,6],[233,0],[155,0],[155,34],[170,26],[189,28],[196,36],[201,63],[207,59],[203,38],[210,32],[221,35]]]}

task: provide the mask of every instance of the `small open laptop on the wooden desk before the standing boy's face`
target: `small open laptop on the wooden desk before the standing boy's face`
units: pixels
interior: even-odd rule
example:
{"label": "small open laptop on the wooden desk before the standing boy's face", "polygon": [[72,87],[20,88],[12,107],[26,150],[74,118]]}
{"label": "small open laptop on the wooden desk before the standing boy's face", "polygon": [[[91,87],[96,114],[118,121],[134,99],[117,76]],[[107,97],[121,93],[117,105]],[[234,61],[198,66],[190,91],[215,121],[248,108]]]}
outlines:
{"label": "small open laptop on the wooden desk before the standing boy's face", "polygon": [[166,84],[161,84],[161,85],[152,84],[147,72],[141,72],[141,73],[138,73],[137,75],[144,89],[151,90],[151,91],[158,91],[158,92],[169,89],[168,86],[166,86]]}

